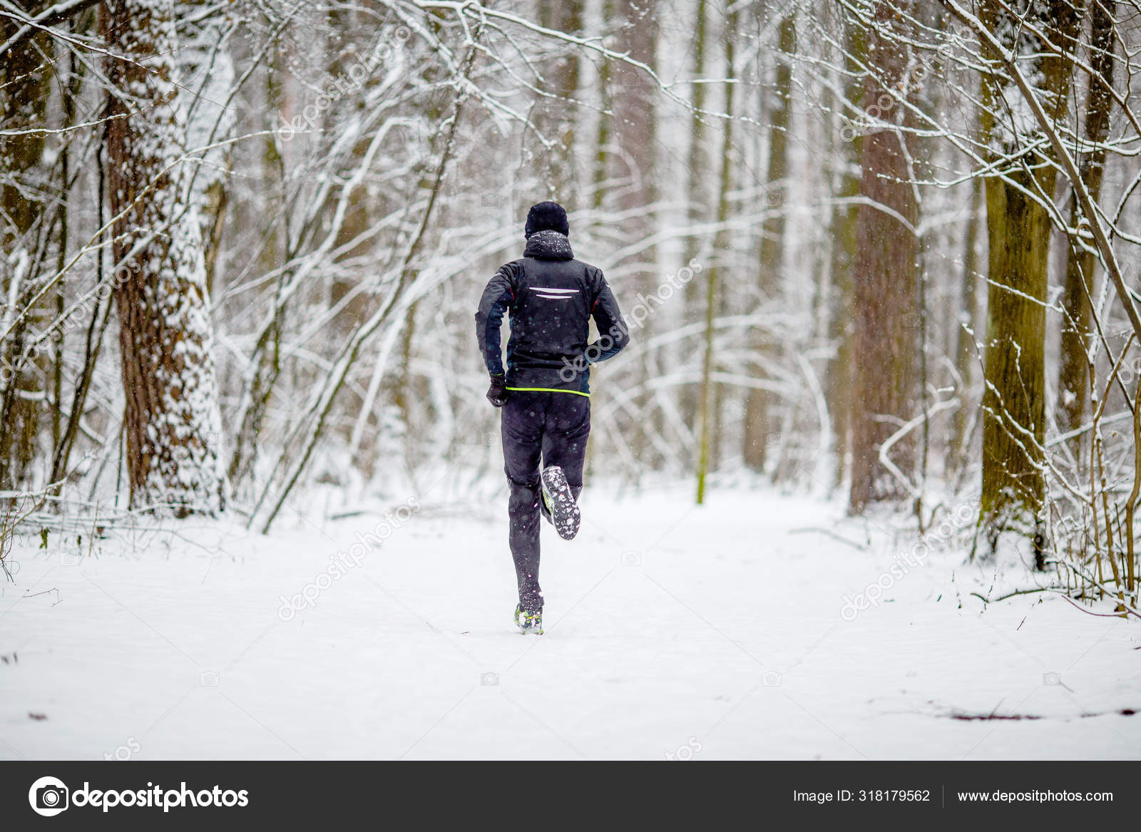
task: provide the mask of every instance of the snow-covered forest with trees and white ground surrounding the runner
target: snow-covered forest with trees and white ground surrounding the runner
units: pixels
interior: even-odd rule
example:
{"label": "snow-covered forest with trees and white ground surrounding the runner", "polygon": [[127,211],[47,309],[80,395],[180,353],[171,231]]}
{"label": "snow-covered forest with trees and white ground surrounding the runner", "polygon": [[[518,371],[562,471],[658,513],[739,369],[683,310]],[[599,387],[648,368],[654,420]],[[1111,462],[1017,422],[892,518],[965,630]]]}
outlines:
{"label": "snow-covered forest with trees and white ground surrounding the runner", "polygon": [[[0,758],[1141,756],[1141,3],[0,42]],[[535,649],[472,315],[544,200],[631,340]]]}

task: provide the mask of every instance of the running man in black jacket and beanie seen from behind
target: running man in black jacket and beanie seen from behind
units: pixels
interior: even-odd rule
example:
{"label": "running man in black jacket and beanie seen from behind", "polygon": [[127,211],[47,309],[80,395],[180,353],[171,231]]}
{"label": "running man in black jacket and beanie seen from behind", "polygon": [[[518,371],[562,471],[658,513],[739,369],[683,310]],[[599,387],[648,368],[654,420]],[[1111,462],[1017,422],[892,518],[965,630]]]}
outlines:
{"label": "running man in black jacket and beanie seen from behind", "polygon": [[[476,312],[476,334],[491,374],[487,398],[502,409],[509,542],[519,583],[515,621],[524,635],[543,633],[540,515],[565,540],[578,532],[590,365],[614,357],[630,341],[606,277],[574,259],[569,233],[560,204],[533,205],[523,258],[500,267]],[[504,372],[500,324],[507,310],[511,337]],[[599,338],[588,344],[591,317]]]}

